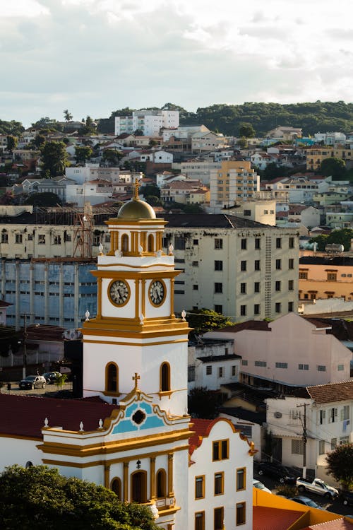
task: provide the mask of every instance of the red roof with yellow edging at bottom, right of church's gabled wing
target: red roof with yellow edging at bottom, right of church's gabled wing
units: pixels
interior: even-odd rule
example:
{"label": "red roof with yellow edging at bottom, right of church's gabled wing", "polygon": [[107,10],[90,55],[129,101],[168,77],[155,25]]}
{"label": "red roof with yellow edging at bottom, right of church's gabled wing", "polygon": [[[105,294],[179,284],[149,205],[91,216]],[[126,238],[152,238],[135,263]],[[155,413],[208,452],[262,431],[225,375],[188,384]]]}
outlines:
{"label": "red roof with yellow edging at bottom, right of church's gabled wing", "polygon": [[263,506],[253,507],[253,529],[256,530],[287,530],[305,512],[280,510]]}

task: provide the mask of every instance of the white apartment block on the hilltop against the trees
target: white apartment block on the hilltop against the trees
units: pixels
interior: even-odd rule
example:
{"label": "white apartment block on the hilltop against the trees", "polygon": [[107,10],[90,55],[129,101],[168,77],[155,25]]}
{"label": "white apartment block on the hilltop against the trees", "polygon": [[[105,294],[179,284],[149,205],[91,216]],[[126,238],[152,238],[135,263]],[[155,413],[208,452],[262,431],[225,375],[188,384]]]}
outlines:
{"label": "white apartment block on the hilltop against the trees", "polygon": [[160,129],[179,126],[179,110],[134,110],[132,116],[116,116],[115,134],[143,131],[144,136],[158,136]]}

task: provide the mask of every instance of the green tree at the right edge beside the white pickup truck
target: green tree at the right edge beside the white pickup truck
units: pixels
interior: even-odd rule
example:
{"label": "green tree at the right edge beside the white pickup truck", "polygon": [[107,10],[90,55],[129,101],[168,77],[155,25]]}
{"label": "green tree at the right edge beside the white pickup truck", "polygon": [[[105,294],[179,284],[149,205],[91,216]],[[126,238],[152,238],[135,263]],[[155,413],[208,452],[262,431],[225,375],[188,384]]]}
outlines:
{"label": "green tree at the right edge beside the white pickup truck", "polygon": [[353,486],[353,443],[337,445],[326,457],[326,469],[345,490]]}

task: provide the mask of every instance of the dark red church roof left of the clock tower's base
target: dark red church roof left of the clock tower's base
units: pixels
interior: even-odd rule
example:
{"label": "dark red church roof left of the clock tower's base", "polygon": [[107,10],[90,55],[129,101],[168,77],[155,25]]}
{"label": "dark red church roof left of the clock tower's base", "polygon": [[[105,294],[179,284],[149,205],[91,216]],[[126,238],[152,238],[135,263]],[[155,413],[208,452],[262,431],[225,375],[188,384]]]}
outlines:
{"label": "dark red church roof left of the clock tower's base", "polygon": [[78,431],[97,430],[100,419],[109,418],[116,406],[101,399],[54,399],[0,394],[0,435],[41,439],[44,419],[49,427]]}

